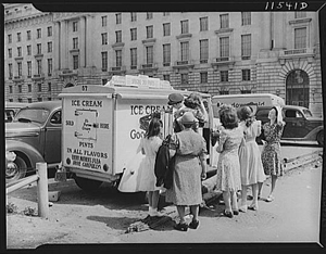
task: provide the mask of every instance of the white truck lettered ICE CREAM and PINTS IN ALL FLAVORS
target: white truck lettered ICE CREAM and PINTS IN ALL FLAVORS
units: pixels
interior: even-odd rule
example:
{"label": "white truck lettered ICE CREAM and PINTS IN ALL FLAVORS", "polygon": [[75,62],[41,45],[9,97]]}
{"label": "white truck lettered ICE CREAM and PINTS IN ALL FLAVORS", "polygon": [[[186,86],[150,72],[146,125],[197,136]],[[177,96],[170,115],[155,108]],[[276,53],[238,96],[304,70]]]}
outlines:
{"label": "white truck lettered ICE CREAM and PINTS IN ALL FLAVORS", "polygon": [[[167,109],[172,92],[185,97],[190,91],[175,90],[166,80],[139,75],[113,76],[106,85],[64,88],[62,98],[62,168],[84,190],[102,182],[121,183],[122,177],[136,175],[140,160],[137,148],[145,137],[153,112],[163,122],[163,136],[173,132],[173,114]],[[211,96],[201,93],[209,113],[202,128],[208,142],[213,126]],[[209,161],[209,160],[208,160]],[[131,167],[133,169],[130,169]],[[121,191],[136,191],[137,177]]]}

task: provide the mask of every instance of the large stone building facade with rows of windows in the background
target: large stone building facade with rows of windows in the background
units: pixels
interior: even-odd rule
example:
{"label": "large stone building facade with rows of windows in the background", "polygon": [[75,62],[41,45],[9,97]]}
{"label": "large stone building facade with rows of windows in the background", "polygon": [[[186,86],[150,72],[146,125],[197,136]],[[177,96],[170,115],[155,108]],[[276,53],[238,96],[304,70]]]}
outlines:
{"label": "large stone building facade with rows of windows in the background", "polygon": [[57,100],[64,87],[142,74],[212,96],[269,92],[323,114],[317,12],[42,13],[7,4],[4,15],[8,101]]}

